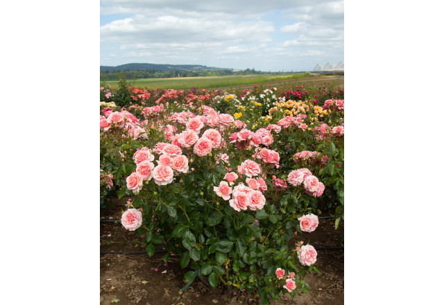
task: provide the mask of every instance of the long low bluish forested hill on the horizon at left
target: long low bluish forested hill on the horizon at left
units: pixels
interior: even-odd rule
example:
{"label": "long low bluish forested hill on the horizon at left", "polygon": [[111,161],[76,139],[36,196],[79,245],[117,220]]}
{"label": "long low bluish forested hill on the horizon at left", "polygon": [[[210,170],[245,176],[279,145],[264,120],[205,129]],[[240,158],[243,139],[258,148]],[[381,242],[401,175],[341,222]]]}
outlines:
{"label": "long low bluish forested hill on the horizon at left", "polygon": [[100,71],[110,73],[112,71],[223,71],[233,69],[207,67],[200,64],[121,64],[120,66],[100,66]]}

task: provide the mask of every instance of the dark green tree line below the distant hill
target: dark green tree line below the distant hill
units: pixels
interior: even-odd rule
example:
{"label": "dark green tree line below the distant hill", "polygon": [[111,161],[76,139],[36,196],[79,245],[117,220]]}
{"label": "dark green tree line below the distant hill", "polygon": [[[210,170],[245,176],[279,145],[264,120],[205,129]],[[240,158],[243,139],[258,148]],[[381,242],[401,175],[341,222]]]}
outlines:
{"label": "dark green tree line below the distant hill", "polygon": [[128,79],[137,79],[137,78],[187,78],[192,76],[231,76],[231,75],[246,75],[246,74],[264,74],[267,72],[255,71],[255,69],[246,69],[239,71],[232,70],[219,70],[219,71],[165,71],[157,69],[148,69],[148,70],[127,70],[127,71],[101,71],[100,80],[108,81],[108,80],[119,80],[121,78],[121,73],[124,73],[126,78]]}

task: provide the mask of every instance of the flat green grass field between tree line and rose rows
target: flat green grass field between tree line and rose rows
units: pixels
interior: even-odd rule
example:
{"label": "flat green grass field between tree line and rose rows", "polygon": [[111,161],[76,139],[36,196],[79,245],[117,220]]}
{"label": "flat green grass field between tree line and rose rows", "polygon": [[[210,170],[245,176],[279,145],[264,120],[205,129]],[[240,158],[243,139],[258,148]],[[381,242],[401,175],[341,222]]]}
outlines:
{"label": "flat green grass field between tree line and rose rows", "polygon": [[[307,77],[305,73],[298,74],[262,74],[250,76],[208,76],[195,78],[140,78],[137,80],[127,79],[129,85],[143,89],[190,89],[197,87],[200,89],[214,89],[237,87],[240,85],[260,84],[263,82],[276,82],[280,80],[296,80]],[[103,82],[110,84],[112,89],[117,89],[119,81],[110,80]]]}

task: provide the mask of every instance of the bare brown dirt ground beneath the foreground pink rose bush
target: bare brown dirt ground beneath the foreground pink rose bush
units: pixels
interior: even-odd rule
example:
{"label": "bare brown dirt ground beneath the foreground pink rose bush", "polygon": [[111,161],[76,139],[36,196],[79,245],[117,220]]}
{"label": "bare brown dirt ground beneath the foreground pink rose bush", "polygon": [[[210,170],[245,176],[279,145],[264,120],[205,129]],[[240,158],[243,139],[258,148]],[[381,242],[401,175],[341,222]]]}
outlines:
{"label": "bare brown dirt ground beneath the foreground pink rose bush", "polygon": [[[100,304],[142,304],[142,305],[189,305],[189,304],[259,304],[259,297],[246,295],[241,291],[229,291],[225,287],[212,288],[196,278],[183,293],[183,277],[188,270],[182,270],[174,257],[164,264],[163,254],[102,254],[102,252],[142,252],[145,250],[143,236],[137,238],[119,223],[121,211],[125,209],[118,200],[115,207],[106,207],[101,213],[101,255],[100,255]],[[310,242],[318,252],[317,267],[323,273],[307,273],[305,281],[311,293],[289,299],[286,294],[282,302],[271,304],[291,305],[339,305],[344,303],[344,252],[338,249],[339,236],[343,230],[334,229],[331,219],[321,218],[315,232],[304,233],[298,240]],[[119,299],[119,302],[117,302]]]}

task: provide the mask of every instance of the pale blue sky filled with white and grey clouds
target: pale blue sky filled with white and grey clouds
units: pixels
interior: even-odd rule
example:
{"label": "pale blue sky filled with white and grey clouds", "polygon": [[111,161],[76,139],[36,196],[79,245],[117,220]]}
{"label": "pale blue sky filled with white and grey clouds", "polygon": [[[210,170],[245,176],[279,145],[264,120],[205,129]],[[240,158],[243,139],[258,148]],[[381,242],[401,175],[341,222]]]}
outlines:
{"label": "pale blue sky filled with white and grey clouds", "polygon": [[311,71],[344,62],[336,0],[101,0],[100,64]]}

